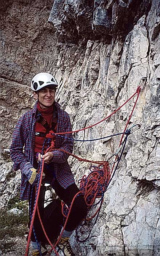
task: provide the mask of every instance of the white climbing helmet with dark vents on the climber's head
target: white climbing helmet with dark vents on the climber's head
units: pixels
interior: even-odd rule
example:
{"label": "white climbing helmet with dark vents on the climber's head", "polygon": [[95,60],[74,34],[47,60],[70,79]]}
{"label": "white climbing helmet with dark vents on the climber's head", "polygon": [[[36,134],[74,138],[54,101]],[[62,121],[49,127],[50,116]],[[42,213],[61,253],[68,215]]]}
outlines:
{"label": "white climbing helmet with dark vents on the climber's head", "polygon": [[34,92],[38,92],[43,87],[49,85],[58,87],[56,78],[49,73],[39,73],[36,74],[31,81],[31,90]]}

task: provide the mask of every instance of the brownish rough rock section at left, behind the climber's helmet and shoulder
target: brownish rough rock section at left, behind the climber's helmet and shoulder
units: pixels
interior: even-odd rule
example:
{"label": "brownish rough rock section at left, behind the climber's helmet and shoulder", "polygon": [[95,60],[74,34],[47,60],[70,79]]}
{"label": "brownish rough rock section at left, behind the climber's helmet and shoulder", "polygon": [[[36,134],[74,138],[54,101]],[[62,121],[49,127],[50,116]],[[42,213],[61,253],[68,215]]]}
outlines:
{"label": "brownish rough rock section at left, behind the climber's helmet and shoulder", "polygon": [[[1,147],[11,143],[17,119],[34,100],[29,89],[32,77],[55,72],[58,51],[47,19],[51,0],[4,1],[1,5]],[[14,114],[15,113],[15,114]]]}

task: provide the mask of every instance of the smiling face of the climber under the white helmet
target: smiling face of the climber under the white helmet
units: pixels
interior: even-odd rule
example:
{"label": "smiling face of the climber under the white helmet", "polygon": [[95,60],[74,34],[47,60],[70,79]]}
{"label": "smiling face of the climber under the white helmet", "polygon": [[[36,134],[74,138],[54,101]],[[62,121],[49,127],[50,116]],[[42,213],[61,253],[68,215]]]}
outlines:
{"label": "smiling face of the climber under the white helmet", "polygon": [[55,88],[54,87],[44,87],[41,89],[38,94],[33,92],[35,99],[39,100],[40,107],[42,109],[46,109],[49,106],[52,106],[55,101]]}

